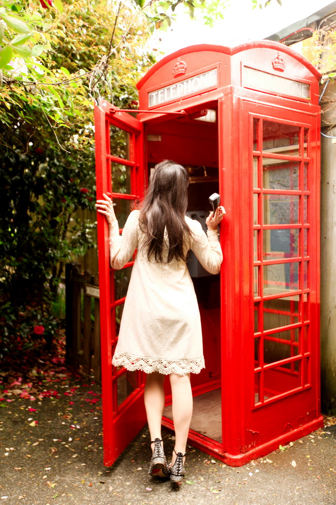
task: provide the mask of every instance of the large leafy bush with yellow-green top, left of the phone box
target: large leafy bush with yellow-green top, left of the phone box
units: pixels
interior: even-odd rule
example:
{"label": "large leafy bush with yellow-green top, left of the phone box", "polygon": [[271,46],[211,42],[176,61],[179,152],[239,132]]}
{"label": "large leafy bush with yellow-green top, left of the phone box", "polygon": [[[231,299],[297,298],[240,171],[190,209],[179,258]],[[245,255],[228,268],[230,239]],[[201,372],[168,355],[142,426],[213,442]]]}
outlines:
{"label": "large leafy bush with yellow-green top, left of the phone box", "polygon": [[[2,52],[11,54],[0,89],[0,304],[17,307],[17,318],[33,300],[50,309],[64,262],[93,245],[95,223],[76,217],[95,209],[93,96],[133,107],[135,83],[154,61],[138,22],[124,35],[138,11],[94,0],[54,3],[58,11],[22,4],[0,10]],[[3,6],[23,24],[8,22]],[[30,53],[17,56],[23,35]]]}

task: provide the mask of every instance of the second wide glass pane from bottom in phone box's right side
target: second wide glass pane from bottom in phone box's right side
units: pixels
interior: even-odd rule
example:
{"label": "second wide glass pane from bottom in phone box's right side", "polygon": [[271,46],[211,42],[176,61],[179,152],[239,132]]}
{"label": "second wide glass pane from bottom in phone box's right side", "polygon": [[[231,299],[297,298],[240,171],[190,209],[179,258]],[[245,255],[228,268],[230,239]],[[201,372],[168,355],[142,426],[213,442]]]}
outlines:
{"label": "second wide glass pane from bottom in phone box's right side", "polygon": [[[287,358],[291,358],[293,356],[298,355],[298,346],[291,345],[291,342],[295,342],[297,340],[292,339],[289,334],[296,333],[294,338],[298,338],[298,328],[291,331],[275,333],[272,335],[273,339],[268,339],[268,337],[264,337],[263,339],[263,361],[264,363],[275,363],[277,361],[286,360]],[[286,338],[289,337],[290,338]],[[290,363],[286,363],[282,365],[282,368],[291,368]]]}

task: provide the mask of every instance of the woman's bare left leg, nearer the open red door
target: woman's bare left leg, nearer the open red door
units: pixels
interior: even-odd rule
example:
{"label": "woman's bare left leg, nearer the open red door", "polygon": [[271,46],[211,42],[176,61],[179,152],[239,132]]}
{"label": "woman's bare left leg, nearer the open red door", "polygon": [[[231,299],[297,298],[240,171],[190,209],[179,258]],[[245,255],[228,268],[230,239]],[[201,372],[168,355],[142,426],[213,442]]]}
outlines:
{"label": "woman's bare left leg, nearer the open red door", "polygon": [[[163,388],[164,380],[165,375],[162,375],[159,372],[147,374],[144,398],[151,440],[155,440],[156,438],[160,438],[161,440],[162,438],[161,423],[163,409],[165,406],[165,393]],[[163,442],[161,445],[163,446]],[[152,443],[151,447],[153,451],[154,443]]]}

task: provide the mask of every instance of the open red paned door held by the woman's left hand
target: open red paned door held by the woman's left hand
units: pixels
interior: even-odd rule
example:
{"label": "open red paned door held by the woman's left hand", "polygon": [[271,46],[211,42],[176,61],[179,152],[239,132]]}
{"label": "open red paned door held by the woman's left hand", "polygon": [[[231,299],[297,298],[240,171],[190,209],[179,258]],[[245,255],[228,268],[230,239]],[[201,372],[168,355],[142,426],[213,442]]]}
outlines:
{"label": "open red paned door held by the woman's left hand", "polygon": [[[95,106],[95,141],[97,198],[111,193],[121,231],[144,193],[143,126],[127,113],[113,113],[113,107],[102,100]],[[100,214],[97,220],[104,465],[110,466],[146,423],[145,374],[111,363],[135,258],[114,271],[107,222]]]}

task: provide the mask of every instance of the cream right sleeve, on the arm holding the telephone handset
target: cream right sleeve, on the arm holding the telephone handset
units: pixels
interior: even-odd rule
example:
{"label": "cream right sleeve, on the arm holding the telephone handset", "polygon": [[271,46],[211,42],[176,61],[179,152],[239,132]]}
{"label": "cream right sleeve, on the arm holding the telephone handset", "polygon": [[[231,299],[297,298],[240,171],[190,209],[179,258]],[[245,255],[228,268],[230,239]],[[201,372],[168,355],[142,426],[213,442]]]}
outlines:
{"label": "cream right sleeve, on the arm holding the telephone handset", "polygon": [[223,261],[221,245],[218,241],[217,230],[208,230],[207,235],[200,223],[193,220],[192,226],[193,250],[199,263],[211,274],[218,274]]}

